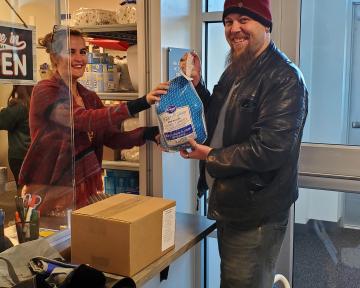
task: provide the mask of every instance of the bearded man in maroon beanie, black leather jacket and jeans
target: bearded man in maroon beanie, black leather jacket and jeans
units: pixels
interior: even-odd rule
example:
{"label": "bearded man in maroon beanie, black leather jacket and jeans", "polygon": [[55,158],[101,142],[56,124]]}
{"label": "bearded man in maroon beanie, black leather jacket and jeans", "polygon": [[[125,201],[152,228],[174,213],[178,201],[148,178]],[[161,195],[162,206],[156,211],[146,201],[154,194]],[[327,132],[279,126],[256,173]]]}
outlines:
{"label": "bearded man in maroon beanie, black leather jacket and jeans", "polygon": [[191,151],[180,154],[202,160],[198,190],[200,196],[210,190],[221,287],[270,288],[289,207],[298,197],[308,93],[299,69],[271,41],[269,0],[226,0],[223,23],[231,51],[211,96],[197,57],[192,71],[208,140],[191,140]]}

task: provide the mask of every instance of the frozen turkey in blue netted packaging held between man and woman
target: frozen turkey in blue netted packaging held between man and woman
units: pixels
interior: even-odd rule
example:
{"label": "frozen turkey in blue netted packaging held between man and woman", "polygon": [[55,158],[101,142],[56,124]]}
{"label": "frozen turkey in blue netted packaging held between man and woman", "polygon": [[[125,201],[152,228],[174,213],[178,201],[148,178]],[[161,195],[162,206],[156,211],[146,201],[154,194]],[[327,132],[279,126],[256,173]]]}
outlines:
{"label": "frozen turkey in blue netted packaging held between man and woman", "polygon": [[166,151],[191,148],[189,139],[207,138],[204,107],[192,82],[184,75],[170,81],[168,93],[156,104],[161,146]]}

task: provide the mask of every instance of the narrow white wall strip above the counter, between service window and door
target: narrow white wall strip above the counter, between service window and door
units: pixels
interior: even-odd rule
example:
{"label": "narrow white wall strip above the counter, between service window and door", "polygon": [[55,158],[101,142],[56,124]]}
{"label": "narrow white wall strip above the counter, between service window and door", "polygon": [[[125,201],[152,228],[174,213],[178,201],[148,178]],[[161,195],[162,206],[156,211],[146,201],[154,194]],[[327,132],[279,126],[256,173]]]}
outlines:
{"label": "narrow white wall strip above the counter, between service window and door", "polygon": [[[192,41],[194,1],[161,1],[162,77],[167,80],[167,48],[195,49]],[[193,213],[195,203],[194,162],[182,159],[178,153],[163,153],[163,195],[177,201],[177,211]]]}

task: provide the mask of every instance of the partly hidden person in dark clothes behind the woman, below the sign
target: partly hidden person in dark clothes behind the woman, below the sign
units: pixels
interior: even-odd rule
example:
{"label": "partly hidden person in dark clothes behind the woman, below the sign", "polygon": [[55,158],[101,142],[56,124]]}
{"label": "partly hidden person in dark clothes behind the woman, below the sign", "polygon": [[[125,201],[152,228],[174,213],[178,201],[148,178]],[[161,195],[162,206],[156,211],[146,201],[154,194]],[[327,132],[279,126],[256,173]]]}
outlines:
{"label": "partly hidden person in dark clothes behind the woman, below the sign", "polygon": [[14,85],[7,107],[0,110],[0,130],[8,131],[8,162],[19,188],[19,172],[30,146],[29,104],[33,86]]}

